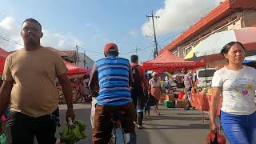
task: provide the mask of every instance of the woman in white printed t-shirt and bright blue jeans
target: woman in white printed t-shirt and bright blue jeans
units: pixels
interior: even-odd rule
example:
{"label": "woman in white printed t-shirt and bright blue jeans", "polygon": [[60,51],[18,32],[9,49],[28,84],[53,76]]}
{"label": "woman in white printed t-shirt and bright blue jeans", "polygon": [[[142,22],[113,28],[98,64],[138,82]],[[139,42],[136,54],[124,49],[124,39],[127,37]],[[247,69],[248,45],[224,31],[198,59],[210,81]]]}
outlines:
{"label": "woman in white printed t-shirt and bright blue jeans", "polygon": [[231,144],[256,143],[256,70],[243,66],[246,51],[242,43],[230,42],[221,54],[228,65],[214,73],[210,103],[211,130],[218,132],[215,118],[220,95],[223,96],[221,123]]}

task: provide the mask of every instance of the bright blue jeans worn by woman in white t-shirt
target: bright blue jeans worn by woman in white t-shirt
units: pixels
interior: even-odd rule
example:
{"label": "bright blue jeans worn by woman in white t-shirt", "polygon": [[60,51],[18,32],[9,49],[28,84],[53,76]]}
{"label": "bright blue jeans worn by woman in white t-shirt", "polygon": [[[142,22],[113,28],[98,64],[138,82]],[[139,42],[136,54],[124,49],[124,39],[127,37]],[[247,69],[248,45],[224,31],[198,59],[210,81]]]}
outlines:
{"label": "bright blue jeans worn by woman in white t-shirt", "polygon": [[221,111],[222,128],[231,144],[256,143],[256,112],[235,115]]}

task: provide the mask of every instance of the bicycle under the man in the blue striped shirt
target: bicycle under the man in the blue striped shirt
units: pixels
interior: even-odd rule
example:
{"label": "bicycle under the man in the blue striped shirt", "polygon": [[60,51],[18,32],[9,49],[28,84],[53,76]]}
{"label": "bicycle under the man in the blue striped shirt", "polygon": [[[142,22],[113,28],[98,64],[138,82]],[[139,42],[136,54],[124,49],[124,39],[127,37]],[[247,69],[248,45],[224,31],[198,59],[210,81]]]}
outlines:
{"label": "bicycle under the man in the blue striped shirt", "polygon": [[130,139],[129,134],[125,134],[122,129],[121,118],[125,114],[125,111],[120,111],[116,114],[111,114],[110,122],[113,124],[112,134],[110,142],[108,144],[127,144]]}

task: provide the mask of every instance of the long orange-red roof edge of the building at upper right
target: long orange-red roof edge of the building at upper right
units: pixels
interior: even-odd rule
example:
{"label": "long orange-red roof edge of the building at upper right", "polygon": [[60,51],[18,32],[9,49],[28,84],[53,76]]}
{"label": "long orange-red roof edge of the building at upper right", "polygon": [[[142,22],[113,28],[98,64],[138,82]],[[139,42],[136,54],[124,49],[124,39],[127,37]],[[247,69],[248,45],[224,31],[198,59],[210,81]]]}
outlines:
{"label": "long orange-red roof edge of the building at upper right", "polygon": [[164,50],[172,50],[182,42],[186,42],[188,38],[192,38],[195,34],[198,34],[205,30],[207,27],[213,25],[214,23],[220,21],[222,18],[226,18],[230,13],[236,10],[243,10],[248,8],[256,7],[255,0],[226,0],[222,2],[214,10],[211,10],[204,18],[201,18],[188,30],[183,32],[178,38],[170,42],[165,48],[160,51],[160,54]]}

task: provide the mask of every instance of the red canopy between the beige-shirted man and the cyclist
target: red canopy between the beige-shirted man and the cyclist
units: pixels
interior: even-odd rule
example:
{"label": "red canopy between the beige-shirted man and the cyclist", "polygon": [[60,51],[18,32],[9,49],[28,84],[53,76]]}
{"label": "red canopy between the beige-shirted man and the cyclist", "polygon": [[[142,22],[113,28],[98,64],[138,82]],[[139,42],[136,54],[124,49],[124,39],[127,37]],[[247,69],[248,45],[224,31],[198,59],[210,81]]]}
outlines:
{"label": "red canopy between the beige-shirted man and the cyclist", "polygon": [[70,63],[70,62],[66,62],[64,61],[66,68],[68,70],[68,75],[74,75],[74,74],[90,74],[90,70],[89,69],[84,69],[82,67],[79,66],[75,66],[74,64]]}

